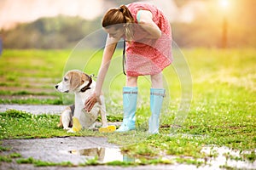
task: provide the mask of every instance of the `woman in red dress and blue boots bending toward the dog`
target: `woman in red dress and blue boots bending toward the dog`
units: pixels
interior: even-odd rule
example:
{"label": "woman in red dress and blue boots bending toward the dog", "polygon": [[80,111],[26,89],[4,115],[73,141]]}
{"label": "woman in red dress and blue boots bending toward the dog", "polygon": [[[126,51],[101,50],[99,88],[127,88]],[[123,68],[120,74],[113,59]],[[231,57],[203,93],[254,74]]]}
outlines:
{"label": "woman in red dress and blue boots bending toward the dog", "polygon": [[117,132],[135,129],[137,108],[137,77],[150,75],[150,111],[148,132],[159,133],[160,109],[165,97],[162,71],[172,63],[171,26],[166,16],[149,3],[131,3],[111,8],[102,20],[104,31],[108,32],[102,65],[96,81],[96,91],[85,102],[90,111],[100,101],[102,84],[120,38],[126,41],[126,86],[123,88],[123,123]]}

